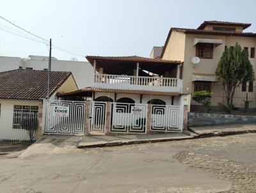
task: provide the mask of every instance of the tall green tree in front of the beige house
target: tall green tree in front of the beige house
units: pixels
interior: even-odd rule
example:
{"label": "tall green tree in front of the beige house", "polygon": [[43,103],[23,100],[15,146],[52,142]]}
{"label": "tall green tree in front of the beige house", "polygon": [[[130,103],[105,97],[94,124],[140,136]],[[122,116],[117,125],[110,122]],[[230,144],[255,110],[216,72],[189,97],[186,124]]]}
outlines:
{"label": "tall green tree in front of the beige house", "polygon": [[227,107],[231,111],[237,86],[243,81],[255,80],[253,67],[248,59],[248,51],[242,49],[239,43],[234,47],[227,47],[218,63],[216,75],[227,86]]}

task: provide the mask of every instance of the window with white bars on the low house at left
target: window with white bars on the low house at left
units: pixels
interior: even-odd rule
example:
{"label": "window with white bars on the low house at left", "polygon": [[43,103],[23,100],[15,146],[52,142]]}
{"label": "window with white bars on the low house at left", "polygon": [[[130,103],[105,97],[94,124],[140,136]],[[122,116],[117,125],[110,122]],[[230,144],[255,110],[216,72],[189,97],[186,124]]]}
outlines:
{"label": "window with white bars on the low house at left", "polygon": [[38,106],[14,105],[13,126],[16,129],[37,128]]}

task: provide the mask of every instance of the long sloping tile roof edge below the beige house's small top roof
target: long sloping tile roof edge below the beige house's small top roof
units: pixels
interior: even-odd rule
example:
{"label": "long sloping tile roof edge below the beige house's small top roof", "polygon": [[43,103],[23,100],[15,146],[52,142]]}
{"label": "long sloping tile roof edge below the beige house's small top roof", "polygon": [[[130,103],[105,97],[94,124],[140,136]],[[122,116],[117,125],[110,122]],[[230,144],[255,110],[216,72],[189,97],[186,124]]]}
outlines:
{"label": "long sloping tile roof edge below the beige house's small top roof", "polygon": [[172,31],[179,31],[185,34],[216,35],[216,36],[244,36],[244,37],[256,38],[256,33],[242,33],[242,32],[236,32],[236,31],[213,31],[213,30],[203,30],[203,29],[188,29],[188,28],[172,27],[164,43],[161,58],[163,57],[164,50],[166,49],[166,46],[170,39]]}

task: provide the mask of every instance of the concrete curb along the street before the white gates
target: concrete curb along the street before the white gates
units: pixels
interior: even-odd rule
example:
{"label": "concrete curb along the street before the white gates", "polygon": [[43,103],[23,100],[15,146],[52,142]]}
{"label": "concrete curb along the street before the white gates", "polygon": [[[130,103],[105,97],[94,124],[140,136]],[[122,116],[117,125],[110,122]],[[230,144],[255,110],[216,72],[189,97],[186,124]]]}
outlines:
{"label": "concrete curb along the street before the white gates", "polygon": [[181,141],[186,139],[194,139],[194,137],[188,136],[188,137],[177,137],[177,138],[157,138],[157,139],[131,139],[131,140],[125,140],[125,141],[111,141],[111,142],[93,142],[93,143],[87,143],[87,144],[78,144],[77,148],[97,148],[97,147],[106,147],[106,146],[123,146],[127,144],[141,144],[141,143],[158,143],[158,142],[164,142],[164,141]]}

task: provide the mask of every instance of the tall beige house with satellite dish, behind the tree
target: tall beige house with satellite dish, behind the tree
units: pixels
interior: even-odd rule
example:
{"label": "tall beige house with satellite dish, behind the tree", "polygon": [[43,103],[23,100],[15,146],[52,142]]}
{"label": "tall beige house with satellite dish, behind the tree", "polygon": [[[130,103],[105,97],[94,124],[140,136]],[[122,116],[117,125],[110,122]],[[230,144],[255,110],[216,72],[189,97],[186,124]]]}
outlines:
{"label": "tall beige house with satellite dish, behind the tree", "polygon": [[[198,87],[209,91],[214,90],[215,82],[219,81],[215,71],[221,54],[225,47],[232,47],[236,42],[248,50],[249,59],[256,72],[256,33],[243,32],[249,26],[251,24],[205,21],[197,29],[172,27],[160,57],[184,61],[181,70],[182,93],[191,93]],[[191,62],[195,56],[200,58],[200,62],[196,65]],[[253,86],[253,82],[247,82],[247,84]]]}

